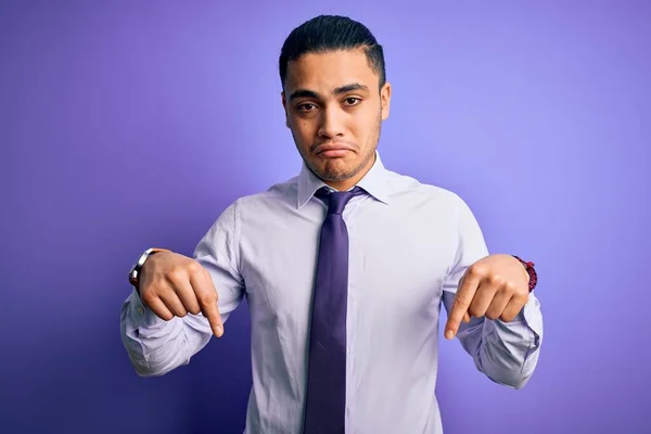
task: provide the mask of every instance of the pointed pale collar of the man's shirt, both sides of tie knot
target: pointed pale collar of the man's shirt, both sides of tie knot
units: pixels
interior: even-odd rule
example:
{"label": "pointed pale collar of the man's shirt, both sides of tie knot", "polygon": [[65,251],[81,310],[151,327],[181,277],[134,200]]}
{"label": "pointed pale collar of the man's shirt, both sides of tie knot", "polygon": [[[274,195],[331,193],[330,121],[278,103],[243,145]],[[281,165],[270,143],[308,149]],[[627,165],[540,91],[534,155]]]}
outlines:
{"label": "pointed pale collar of the man's shirt, both sides of tie knot", "polygon": [[[357,183],[378,201],[388,205],[388,171],[384,168],[380,153],[375,150],[375,162],[371,169]],[[303,207],[311,196],[322,187],[328,187],[319,177],[317,177],[303,162],[301,174],[298,175],[297,203],[296,207]]]}

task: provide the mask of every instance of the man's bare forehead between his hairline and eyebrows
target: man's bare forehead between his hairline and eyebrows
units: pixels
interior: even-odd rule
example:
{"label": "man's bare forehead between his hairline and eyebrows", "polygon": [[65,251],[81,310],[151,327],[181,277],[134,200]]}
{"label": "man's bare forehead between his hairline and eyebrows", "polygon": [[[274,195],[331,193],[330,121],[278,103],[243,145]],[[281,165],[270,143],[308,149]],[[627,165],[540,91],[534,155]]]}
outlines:
{"label": "man's bare forehead between his hairline and eyebrows", "polygon": [[285,91],[309,89],[331,91],[350,84],[378,87],[380,77],[361,49],[307,53],[288,64]]}

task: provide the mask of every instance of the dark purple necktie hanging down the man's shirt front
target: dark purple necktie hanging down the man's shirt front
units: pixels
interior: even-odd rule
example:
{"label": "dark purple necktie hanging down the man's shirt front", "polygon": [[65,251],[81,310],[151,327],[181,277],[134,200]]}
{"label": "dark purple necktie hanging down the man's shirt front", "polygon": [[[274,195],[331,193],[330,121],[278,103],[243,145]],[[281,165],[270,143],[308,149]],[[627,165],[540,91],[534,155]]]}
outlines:
{"label": "dark purple necktie hanging down the man's shirt front", "polygon": [[328,204],[321,227],[309,335],[304,434],[344,434],[346,406],[346,308],[348,230],[342,217],[353,196],[365,191],[317,191]]}

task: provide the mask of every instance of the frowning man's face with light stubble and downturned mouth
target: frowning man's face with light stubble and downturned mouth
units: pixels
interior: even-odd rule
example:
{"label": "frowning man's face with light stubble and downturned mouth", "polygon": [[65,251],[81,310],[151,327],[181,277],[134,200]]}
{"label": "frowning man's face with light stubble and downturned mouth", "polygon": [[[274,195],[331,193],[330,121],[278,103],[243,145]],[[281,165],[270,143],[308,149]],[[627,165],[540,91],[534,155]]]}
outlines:
{"label": "frowning man's face with light stubble and downturned mouth", "polygon": [[307,166],[337,190],[355,186],[375,161],[391,85],[361,49],[309,53],[290,62],[282,92],[286,125]]}

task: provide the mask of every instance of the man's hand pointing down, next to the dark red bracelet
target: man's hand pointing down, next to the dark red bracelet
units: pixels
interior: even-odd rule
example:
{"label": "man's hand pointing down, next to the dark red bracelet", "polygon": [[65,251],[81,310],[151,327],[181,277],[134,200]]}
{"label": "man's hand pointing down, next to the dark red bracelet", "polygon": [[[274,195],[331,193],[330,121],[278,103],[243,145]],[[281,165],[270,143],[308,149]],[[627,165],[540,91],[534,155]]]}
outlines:
{"label": "man's hand pointing down, next to the dark red bracelet", "polygon": [[457,335],[461,320],[470,317],[512,321],[528,302],[529,277],[511,255],[490,255],[471,265],[459,289],[445,327],[445,337]]}

